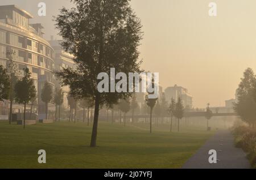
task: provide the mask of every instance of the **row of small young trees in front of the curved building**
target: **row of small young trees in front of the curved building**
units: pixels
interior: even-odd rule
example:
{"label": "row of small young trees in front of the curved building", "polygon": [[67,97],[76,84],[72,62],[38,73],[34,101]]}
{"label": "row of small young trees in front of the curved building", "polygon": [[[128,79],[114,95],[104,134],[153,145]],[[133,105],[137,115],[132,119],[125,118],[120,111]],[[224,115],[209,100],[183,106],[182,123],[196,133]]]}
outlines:
{"label": "row of small young trees in front of the curved building", "polygon": [[[9,62],[7,63],[7,68],[0,66],[0,101],[10,101],[10,124],[13,121],[13,102],[15,101],[18,104],[24,105],[23,127],[25,128],[27,105],[28,103],[31,103],[30,114],[32,114],[32,107],[37,101],[36,87],[34,85],[34,80],[31,78],[31,72],[29,69],[23,68],[23,73],[21,73],[18,70],[18,65],[13,61],[12,58],[12,55],[15,53],[11,51],[8,54],[10,55],[10,58]],[[46,119],[48,104],[53,99],[52,94],[52,86],[46,82],[40,95],[41,100],[46,104]],[[63,92],[61,88],[55,89],[53,103],[56,105],[56,109],[57,106],[60,107],[61,104],[63,104]]]}

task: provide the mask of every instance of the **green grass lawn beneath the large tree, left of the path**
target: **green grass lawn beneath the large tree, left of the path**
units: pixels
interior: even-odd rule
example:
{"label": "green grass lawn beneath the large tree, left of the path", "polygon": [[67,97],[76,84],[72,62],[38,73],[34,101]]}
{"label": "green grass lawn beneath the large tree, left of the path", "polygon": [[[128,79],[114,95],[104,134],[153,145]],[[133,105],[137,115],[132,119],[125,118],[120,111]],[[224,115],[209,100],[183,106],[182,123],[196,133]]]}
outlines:
{"label": "green grass lawn beneath the large tree, left of the path", "polygon": [[[214,133],[200,128],[168,132],[169,125],[100,123],[96,148],[92,126],[53,123],[27,126],[0,123],[0,168],[180,168]],[[39,149],[47,163],[38,163]]]}

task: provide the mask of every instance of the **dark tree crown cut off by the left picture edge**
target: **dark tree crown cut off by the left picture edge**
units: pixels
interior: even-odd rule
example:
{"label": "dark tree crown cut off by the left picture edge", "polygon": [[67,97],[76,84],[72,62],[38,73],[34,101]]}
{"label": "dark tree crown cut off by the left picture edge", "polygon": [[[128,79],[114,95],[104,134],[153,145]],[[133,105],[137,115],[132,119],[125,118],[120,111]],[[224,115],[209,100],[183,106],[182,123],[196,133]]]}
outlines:
{"label": "dark tree crown cut off by the left picture edge", "polygon": [[6,68],[0,66],[0,101],[7,100],[10,94],[10,79]]}

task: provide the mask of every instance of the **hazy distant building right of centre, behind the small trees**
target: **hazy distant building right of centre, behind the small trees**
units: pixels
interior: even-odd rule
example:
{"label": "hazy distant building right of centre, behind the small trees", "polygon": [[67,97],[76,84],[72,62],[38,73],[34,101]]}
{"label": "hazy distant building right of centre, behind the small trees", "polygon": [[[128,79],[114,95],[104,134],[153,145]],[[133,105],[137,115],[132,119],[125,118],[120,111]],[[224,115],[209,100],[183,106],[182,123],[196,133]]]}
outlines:
{"label": "hazy distant building right of centre, behind the small trees", "polygon": [[171,98],[174,98],[174,100],[177,102],[178,98],[180,97],[184,107],[192,108],[192,96],[189,95],[188,89],[186,88],[174,85],[174,87],[166,88],[164,95],[166,96],[166,101],[168,103],[171,102]]}

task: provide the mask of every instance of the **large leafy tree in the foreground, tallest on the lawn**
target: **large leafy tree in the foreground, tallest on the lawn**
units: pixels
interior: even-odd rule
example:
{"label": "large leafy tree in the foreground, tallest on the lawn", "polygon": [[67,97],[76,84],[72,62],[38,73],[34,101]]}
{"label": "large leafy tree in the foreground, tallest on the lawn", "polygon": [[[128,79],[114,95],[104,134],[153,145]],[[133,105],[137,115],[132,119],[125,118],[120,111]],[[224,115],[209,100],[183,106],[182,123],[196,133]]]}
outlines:
{"label": "large leafy tree in the foreground, tallest on the lawn", "polygon": [[142,38],[141,22],[129,0],[73,0],[74,8],[63,7],[55,18],[63,37],[62,46],[74,55],[76,70],[65,68],[57,73],[72,95],[94,100],[94,122],[90,146],[96,147],[100,105],[116,104],[132,93],[99,92],[98,75],[110,68],[116,72],[141,72],[138,46]]}

